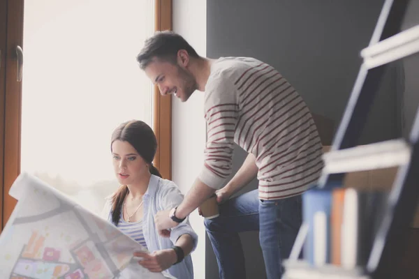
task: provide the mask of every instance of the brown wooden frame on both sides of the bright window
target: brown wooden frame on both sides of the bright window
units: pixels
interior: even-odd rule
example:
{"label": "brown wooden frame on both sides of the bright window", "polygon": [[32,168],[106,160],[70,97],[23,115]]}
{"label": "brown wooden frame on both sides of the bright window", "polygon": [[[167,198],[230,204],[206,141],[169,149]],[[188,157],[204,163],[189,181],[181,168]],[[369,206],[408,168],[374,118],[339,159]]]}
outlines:
{"label": "brown wooden frame on both sides of the bright window", "polygon": [[[172,0],[154,0],[154,31],[172,29]],[[24,0],[0,0],[0,231],[15,208],[16,200],[8,195],[20,174],[20,133],[22,82],[17,82],[16,46],[23,47]],[[3,50],[3,47],[6,50]],[[5,84],[3,86],[3,84]],[[172,98],[153,92],[153,128],[159,144],[154,165],[165,179],[172,177]]]}

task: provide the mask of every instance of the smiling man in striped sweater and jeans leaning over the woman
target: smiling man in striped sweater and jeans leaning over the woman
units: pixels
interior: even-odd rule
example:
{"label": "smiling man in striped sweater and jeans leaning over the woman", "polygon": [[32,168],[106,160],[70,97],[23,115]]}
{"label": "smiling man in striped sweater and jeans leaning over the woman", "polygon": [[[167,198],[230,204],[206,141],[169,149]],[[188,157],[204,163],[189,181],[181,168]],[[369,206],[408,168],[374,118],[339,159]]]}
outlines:
{"label": "smiling man in striped sweater and jeans leaning over the woman", "polygon": [[[176,33],[156,33],[137,57],[163,96],[186,102],[205,92],[203,169],[182,204],[160,211],[156,227],[182,223],[216,190],[220,216],[205,222],[220,278],[246,278],[238,232],[259,230],[267,278],[280,278],[301,224],[301,194],[320,176],[321,141],[307,105],[272,66],[248,57],[206,59]],[[231,173],[233,143],[249,153]],[[257,175],[258,190],[228,199]],[[221,189],[220,189],[221,188]]]}

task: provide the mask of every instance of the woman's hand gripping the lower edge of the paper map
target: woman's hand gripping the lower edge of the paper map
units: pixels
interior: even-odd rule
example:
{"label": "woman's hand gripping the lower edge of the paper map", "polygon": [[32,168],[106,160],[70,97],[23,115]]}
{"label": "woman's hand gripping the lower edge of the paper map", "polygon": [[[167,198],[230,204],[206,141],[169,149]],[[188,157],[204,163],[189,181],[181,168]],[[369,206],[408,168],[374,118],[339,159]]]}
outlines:
{"label": "woman's hand gripping the lower edge of the paper map", "polygon": [[177,255],[173,249],[154,251],[151,254],[135,252],[134,257],[142,257],[138,264],[152,272],[161,272],[177,262]]}

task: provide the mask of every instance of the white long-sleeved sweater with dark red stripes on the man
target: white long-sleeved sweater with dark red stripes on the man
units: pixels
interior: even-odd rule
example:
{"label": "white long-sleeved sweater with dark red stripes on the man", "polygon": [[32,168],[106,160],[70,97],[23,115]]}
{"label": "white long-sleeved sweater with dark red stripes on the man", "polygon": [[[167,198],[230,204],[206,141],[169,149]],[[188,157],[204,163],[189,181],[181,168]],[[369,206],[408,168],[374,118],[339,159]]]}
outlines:
{"label": "white long-sleeved sweater with dark red stripes on the man", "polygon": [[281,199],[310,188],[323,168],[311,113],[272,66],[247,57],[223,57],[205,86],[207,144],[199,178],[221,188],[231,174],[234,143],[253,153],[260,199]]}

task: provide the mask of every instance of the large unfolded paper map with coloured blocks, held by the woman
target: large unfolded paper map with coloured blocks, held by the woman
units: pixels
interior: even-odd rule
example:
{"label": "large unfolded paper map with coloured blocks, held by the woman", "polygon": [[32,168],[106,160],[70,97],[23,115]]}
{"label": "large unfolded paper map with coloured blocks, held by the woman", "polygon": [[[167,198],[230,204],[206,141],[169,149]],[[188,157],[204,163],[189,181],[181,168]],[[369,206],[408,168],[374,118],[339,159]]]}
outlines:
{"label": "large unfolded paper map with coloured blocks, held by the woman", "polygon": [[0,278],[173,278],[140,266],[140,243],[35,176],[20,174],[9,195],[17,205],[0,235]]}

